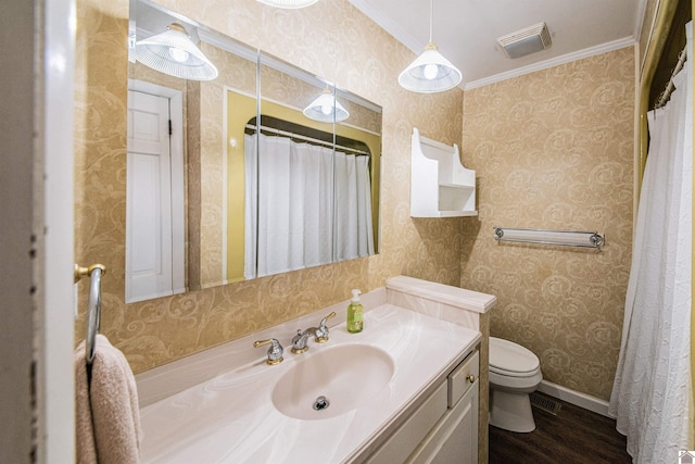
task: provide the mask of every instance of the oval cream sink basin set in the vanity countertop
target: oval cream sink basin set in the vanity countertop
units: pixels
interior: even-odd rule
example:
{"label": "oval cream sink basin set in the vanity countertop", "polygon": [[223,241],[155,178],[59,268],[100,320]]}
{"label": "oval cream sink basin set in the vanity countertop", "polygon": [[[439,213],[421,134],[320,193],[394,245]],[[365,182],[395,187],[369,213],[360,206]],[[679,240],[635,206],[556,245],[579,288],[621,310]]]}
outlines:
{"label": "oval cream sink basin set in the vanity countertop", "polygon": [[305,354],[273,390],[273,403],[287,416],[321,419],[344,414],[374,398],[393,377],[393,360],[379,348],[342,344],[314,349],[316,352]]}

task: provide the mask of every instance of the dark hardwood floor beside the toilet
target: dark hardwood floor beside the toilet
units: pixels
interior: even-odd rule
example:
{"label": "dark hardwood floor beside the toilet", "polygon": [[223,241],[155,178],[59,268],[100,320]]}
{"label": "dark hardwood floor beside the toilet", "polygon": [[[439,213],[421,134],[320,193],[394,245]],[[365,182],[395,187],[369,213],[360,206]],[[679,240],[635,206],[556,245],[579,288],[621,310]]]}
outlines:
{"label": "dark hardwood floor beside the toilet", "polygon": [[530,434],[490,426],[490,464],[632,462],[614,419],[559,402],[557,416],[533,407],[535,430]]}

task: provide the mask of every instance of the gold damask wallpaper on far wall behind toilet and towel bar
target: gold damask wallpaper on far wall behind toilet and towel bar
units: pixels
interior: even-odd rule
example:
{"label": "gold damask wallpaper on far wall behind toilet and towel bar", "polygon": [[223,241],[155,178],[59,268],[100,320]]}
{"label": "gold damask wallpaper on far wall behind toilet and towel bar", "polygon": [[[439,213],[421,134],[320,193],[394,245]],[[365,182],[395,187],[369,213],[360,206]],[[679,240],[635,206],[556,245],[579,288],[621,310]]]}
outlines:
{"label": "gold damask wallpaper on far wall behind toilet and towel bar", "polygon": [[[462,286],[497,297],[490,333],[543,377],[610,397],[632,247],[634,49],[465,92],[463,161],[478,176]],[[602,251],[497,243],[493,226],[598,230]]]}

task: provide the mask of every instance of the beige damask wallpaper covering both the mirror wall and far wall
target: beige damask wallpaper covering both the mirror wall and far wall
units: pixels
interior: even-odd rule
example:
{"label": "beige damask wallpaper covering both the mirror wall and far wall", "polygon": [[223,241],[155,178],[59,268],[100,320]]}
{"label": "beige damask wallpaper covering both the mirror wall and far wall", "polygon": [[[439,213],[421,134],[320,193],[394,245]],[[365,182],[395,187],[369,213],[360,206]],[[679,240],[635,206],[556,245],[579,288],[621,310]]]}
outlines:
{"label": "beige damask wallpaper covering both the mirror wall and far wall", "polygon": [[[607,399],[630,262],[632,49],[467,91],[464,101],[458,89],[401,89],[396,76],[414,54],[346,0],[300,11],[255,0],[162,3],[383,108],[381,253],[126,304],[128,0],[77,0],[76,261],[106,265],[101,331],[136,373],[404,274],[497,296],[483,330],[533,350],[546,379]],[[409,217],[414,126],[447,145],[463,140],[464,164],[478,172],[479,217]],[[204,195],[201,185],[193,191]],[[595,228],[607,244],[601,252],[498,246],[493,225]],[[85,287],[76,341],[85,334]],[[486,378],[481,385],[484,424]],[[484,462],[486,427],[480,440]]]}

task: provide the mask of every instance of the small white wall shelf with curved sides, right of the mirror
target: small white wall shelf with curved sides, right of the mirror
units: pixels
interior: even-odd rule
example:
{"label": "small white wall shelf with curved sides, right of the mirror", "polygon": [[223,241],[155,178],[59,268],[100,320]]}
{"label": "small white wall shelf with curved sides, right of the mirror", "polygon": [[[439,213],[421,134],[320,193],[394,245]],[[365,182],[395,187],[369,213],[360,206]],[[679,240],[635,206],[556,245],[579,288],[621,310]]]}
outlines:
{"label": "small white wall shelf with curved sides, right of the mirror", "polygon": [[476,171],[460,163],[458,146],[421,137],[413,128],[410,216],[477,216]]}

